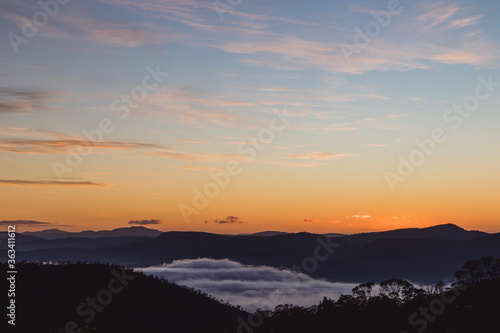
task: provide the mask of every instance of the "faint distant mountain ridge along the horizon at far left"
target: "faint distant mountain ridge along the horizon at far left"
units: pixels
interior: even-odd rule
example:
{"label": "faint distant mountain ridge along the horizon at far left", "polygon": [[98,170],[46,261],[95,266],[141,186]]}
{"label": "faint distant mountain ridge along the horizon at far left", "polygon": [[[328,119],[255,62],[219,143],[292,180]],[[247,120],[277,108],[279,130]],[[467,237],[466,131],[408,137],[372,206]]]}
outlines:
{"label": "faint distant mountain ridge along the horizon at far left", "polygon": [[134,226],[128,228],[118,228],[114,230],[101,230],[101,231],[80,231],[80,232],[68,232],[59,229],[48,229],[43,231],[26,231],[22,233],[25,236],[36,236],[44,239],[57,239],[57,238],[68,238],[68,237],[79,237],[79,238],[102,238],[102,237],[157,237],[162,234],[161,231],[156,229],[148,229],[142,226]]}

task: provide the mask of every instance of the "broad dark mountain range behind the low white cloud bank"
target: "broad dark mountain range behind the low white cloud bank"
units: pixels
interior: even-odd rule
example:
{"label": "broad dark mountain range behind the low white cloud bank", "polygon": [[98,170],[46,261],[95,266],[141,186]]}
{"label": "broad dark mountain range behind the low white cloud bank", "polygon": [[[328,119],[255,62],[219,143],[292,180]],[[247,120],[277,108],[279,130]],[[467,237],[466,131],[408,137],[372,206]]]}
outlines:
{"label": "broad dark mountain range behind the low white cloud bank", "polygon": [[[99,244],[99,248],[92,248],[85,245],[85,242],[98,241],[79,239],[81,243],[77,245],[77,242],[52,240],[48,241],[52,245],[40,243],[43,247],[39,249],[19,246],[17,255],[20,260],[88,260],[129,267],[202,257],[228,258],[249,265],[294,268],[339,282],[400,277],[423,283],[435,283],[453,276],[467,260],[500,257],[500,233],[467,231],[450,224],[335,238],[311,233],[235,237],[172,231],[112,246]],[[33,240],[30,242],[36,244]]]}

